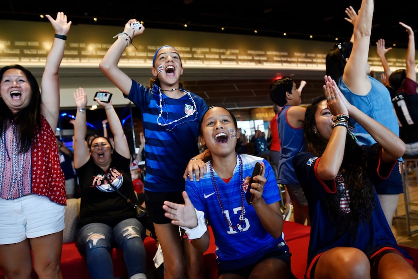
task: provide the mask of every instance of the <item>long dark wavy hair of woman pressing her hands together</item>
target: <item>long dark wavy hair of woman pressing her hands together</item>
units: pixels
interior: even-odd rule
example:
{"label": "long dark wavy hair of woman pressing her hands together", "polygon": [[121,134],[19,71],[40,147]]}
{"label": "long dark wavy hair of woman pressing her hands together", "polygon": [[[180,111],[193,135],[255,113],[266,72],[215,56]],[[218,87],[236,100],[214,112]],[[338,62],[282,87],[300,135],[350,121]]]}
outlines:
{"label": "long dark wavy hair of woman pressing her hands together", "polygon": [[[319,133],[315,133],[315,113],[325,97],[318,97],[305,112],[304,140],[306,151],[321,157],[327,146]],[[360,157],[359,157],[360,154]],[[346,189],[350,192],[349,214],[341,210],[339,201],[340,193],[327,195],[325,197],[328,215],[336,225],[337,233],[343,234],[348,229],[353,237],[357,235],[357,226],[361,220],[370,220],[373,208],[376,206],[374,187],[366,174],[367,158],[363,149],[356,143],[356,140],[347,134],[345,139],[344,157],[339,172],[344,178]]]}

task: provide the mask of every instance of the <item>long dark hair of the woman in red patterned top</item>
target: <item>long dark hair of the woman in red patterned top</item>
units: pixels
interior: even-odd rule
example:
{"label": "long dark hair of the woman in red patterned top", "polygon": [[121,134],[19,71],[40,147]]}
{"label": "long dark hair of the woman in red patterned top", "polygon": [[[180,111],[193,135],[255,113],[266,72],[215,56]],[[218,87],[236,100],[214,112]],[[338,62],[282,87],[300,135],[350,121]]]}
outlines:
{"label": "long dark hair of the woman in red patterned top", "polygon": [[25,153],[30,149],[34,132],[41,124],[41,93],[36,78],[27,68],[21,65],[9,65],[1,68],[0,77],[2,77],[2,80],[5,72],[9,69],[19,69],[24,73],[32,90],[32,96],[28,106],[15,114],[12,113],[4,100],[0,98],[0,133],[3,134],[13,121],[19,129],[19,152]]}

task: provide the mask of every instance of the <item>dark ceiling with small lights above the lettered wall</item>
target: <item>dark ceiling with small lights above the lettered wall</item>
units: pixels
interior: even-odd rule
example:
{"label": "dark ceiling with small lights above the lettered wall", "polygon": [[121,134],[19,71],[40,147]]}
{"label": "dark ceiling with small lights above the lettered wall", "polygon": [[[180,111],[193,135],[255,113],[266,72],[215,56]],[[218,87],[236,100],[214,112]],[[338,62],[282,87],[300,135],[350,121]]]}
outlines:
{"label": "dark ceiling with small lights above the lettered wall", "polygon": [[[375,2],[372,43],[384,38],[388,44],[406,48],[407,36],[398,22],[418,28],[415,1]],[[289,38],[309,39],[312,35],[314,40],[334,41],[351,36],[353,26],[344,20],[345,8],[350,5],[358,10],[361,1],[3,0],[0,18],[45,21],[40,14],[54,16],[63,11],[73,24],[123,26],[129,19],[137,19],[148,28],[184,30],[187,24],[193,31],[272,37],[286,32]]]}

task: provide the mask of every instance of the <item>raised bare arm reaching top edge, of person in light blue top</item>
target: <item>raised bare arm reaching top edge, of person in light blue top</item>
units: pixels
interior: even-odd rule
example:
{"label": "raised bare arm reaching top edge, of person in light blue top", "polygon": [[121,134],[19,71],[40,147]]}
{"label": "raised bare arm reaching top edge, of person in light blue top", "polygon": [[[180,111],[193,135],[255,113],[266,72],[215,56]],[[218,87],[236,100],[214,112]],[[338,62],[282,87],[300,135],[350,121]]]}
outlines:
{"label": "raised bare arm reaching top edge, of person in light blue top", "polygon": [[353,30],[353,50],[342,75],[343,82],[358,95],[366,95],[371,89],[368,78],[370,71],[367,63],[372,32],[372,19],[374,0],[363,0],[359,15],[356,18]]}

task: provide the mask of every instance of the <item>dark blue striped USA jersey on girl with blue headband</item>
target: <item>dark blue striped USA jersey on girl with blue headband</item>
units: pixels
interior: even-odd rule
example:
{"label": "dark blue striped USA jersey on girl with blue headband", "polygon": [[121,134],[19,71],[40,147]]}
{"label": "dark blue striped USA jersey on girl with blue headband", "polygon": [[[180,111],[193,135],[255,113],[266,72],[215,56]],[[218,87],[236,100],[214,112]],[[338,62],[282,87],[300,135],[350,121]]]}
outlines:
{"label": "dark blue striped USA jersey on girl with blue headband", "polygon": [[199,121],[206,111],[204,100],[188,91],[173,99],[132,80],[127,98],[142,113],[145,136],[145,189],[154,192],[184,190],[184,170],[199,154]]}

